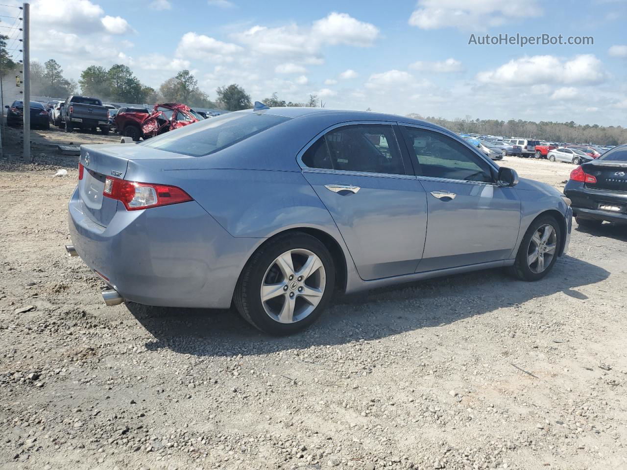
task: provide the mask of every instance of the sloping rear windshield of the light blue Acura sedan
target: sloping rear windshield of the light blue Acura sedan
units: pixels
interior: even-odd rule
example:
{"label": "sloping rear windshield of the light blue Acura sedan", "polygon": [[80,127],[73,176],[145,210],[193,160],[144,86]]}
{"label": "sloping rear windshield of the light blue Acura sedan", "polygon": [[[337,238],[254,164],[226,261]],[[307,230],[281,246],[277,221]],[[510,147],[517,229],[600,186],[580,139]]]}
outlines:
{"label": "sloping rear windshield of the light blue Acura sedan", "polygon": [[258,113],[228,113],[150,138],[151,149],[201,157],[262,132],[290,118]]}

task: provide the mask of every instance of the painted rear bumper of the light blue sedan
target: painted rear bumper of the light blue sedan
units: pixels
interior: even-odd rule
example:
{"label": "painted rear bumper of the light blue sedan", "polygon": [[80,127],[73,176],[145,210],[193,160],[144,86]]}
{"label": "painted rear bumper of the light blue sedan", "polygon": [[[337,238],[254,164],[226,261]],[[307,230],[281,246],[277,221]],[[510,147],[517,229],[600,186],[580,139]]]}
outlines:
{"label": "painted rear bumper of the light blue sedan", "polygon": [[129,301],[228,308],[260,239],[234,238],[196,201],[119,210],[107,227],[90,219],[75,191],[69,204],[76,253]]}

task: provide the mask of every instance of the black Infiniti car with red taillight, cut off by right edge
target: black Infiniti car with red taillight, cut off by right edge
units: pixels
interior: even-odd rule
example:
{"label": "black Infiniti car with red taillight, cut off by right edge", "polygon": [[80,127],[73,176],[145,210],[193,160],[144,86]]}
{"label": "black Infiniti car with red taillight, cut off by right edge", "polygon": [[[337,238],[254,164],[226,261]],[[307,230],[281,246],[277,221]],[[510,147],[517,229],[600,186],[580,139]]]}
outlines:
{"label": "black Infiniti car with red taillight, cut off by right edge", "polygon": [[564,194],[582,226],[627,224],[627,144],[572,170]]}

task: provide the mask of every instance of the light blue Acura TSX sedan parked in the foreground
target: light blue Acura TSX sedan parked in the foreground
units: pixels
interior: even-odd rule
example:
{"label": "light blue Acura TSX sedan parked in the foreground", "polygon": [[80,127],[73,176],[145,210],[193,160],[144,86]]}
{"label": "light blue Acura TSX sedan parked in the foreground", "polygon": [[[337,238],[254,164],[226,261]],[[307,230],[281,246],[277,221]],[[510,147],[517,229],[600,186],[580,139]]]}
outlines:
{"label": "light blue Acura TSX sedan parked in the foreground", "polygon": [[228,308],[264,332],[313,323],[337,291],[486,268],[542,279],[569,200],[406,117],[267,108],[140,144],[83,145],[66,246],[132,301]]}

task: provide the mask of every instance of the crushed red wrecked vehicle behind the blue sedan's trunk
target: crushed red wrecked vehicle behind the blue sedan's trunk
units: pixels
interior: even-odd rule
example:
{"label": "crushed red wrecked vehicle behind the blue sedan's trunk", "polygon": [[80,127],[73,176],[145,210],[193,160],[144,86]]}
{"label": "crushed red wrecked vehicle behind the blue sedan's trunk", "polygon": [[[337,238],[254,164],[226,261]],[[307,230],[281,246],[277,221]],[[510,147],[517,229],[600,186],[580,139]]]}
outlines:
{"label": "crushed red wrecked vehicle behind the blue sedan's trunk", "polygon": [[119,112],[113,123],[121,135],[137,141],[140,138],[154,137],[172,129],[202,121],[203,117],[187,105],[179,103],[163,103],[154,105],[152,112],[133,108]]}

